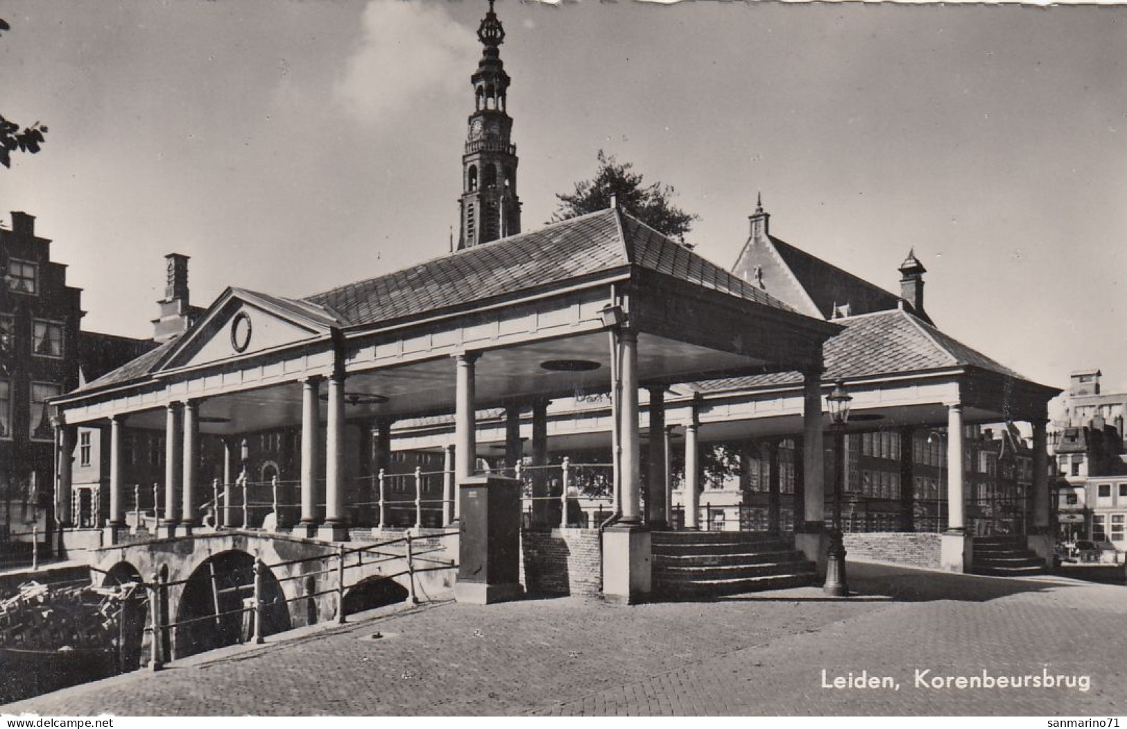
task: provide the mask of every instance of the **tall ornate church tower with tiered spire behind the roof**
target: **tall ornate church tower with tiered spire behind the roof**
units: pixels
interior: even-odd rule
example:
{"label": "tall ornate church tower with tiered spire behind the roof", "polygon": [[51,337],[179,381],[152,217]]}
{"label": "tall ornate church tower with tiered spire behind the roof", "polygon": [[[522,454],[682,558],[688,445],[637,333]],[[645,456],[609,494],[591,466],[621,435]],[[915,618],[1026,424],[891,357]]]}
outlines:
{"label": "tall ornate church tower with tiered spire behind the roof", "polygon": [[516,196],[516,145],[509,142],[513,119],[505,110],[508,74],[498,46],[505,29],[489,12],[478,27],[485,46],[473,85],[473,114],[469,118],[462,155],[462,221],[459,250],[521,232],[521,201]]}

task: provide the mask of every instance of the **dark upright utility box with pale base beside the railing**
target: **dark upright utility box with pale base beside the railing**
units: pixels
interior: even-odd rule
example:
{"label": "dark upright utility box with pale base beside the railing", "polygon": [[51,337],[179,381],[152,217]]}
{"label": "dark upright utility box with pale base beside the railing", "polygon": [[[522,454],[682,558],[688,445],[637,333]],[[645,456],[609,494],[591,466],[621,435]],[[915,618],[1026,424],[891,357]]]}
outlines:
{"label": "dark upright utility box with pale base beside the railing", "polygon": [[471,477],[458,484],[459,567],[454,599],[487,605],[521,596],[521,481]]}

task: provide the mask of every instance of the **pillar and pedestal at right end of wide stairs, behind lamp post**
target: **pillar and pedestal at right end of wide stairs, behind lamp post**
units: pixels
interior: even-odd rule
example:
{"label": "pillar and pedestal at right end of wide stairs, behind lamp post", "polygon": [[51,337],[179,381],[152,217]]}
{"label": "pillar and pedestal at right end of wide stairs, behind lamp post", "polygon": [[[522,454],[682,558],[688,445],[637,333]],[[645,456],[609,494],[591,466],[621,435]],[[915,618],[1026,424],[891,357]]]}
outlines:
{"label": "pillar and pedestal at right end of wide stairs, behind lamp post", "polygon": [[[818,575],[826,574],[826,492],[825,492],[825,445],[823,428],[825,418],[822,410],[822,373],[802,373],[802,509],[801,531],[795,530],[795,549],[801,550],[806,559],[816,562]],[[797,487],[796,487],[797,490]]]}

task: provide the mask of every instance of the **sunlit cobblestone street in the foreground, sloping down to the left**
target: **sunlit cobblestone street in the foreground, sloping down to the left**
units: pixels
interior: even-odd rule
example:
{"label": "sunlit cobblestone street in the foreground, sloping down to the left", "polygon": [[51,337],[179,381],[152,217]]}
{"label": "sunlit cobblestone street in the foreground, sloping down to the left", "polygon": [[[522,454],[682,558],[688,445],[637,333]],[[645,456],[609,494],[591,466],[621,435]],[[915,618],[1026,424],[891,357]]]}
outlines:
{"label": "sunlit cobblestone street in the foreground, sloping down to the left", "polygon": [[[1127,588],[851,564],[816,588],[612,607],[529,599],[383,608],[10,704],[148,714],[1125,714]],[[958,598],[951,598],[958,595]],[[373,640],[375,632],[382,638]],[[1104,635],[1107,639],[1100,639]],[[1088,639],[1083,644],[1076,637]],[[1091,688],[916,687],[930,676],[1088,675]],[[891,676],[893,688],[828,678]]]}

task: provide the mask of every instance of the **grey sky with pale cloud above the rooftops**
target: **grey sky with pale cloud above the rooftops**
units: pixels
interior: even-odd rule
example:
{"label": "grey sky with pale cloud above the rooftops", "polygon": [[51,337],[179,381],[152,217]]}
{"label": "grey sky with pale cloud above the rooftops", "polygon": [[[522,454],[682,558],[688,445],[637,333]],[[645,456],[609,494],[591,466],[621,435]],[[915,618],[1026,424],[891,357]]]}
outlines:
{"label": "grey sky with pale cloud above the rooftops", "polygon": [[[1035,381],[1127,389],[1127,6],[498,0],[524,230],[605,150],[676,189],[731,266],[772,234],[898,292]],[[485,0],[6,0],[0,169],[83,328],[151,336],[163,256],[192,301],[301,296],[444,255]]]}

